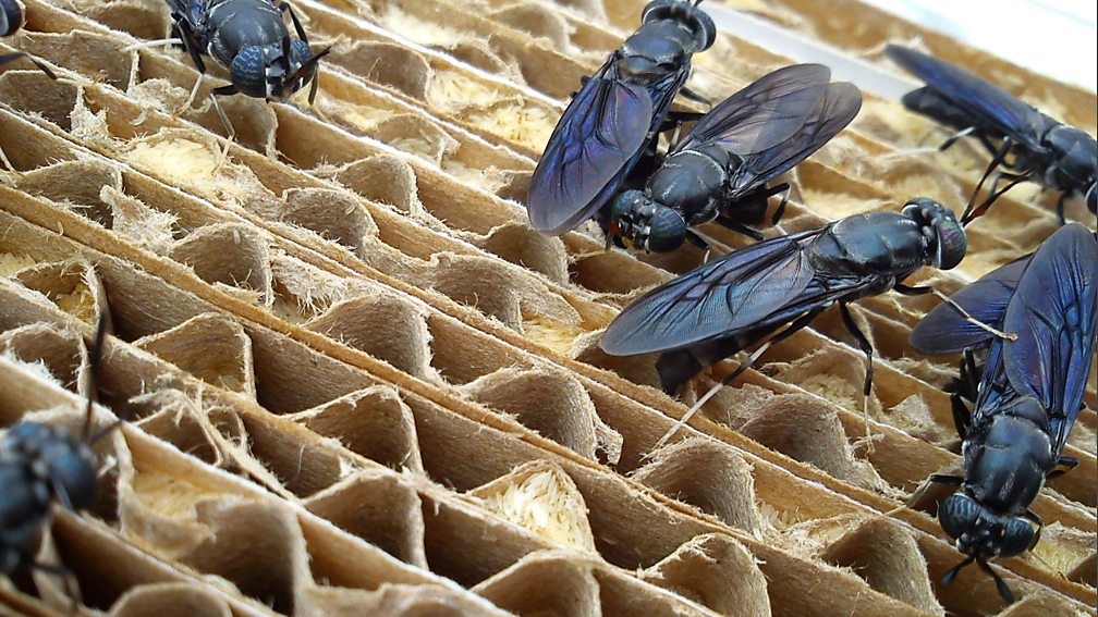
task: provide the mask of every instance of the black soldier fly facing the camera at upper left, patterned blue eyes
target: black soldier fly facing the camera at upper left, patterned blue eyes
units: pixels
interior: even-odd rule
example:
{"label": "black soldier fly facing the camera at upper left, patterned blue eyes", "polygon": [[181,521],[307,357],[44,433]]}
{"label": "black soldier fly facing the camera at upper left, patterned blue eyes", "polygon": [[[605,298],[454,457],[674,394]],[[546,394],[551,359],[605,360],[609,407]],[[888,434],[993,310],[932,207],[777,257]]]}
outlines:
{"label": "black soldier fly facing the camera at upper left, patterned blue eyes", "polygon": [[[309,36],[288,2],[274,0],[167,0],[179,38],[199,72],[205,74],[202,55],[225,67],[232,83],[210,93],[225,130],[232,124],[217,97],[236,93],[257,99],[287,101],[312,82],[309,102],[316,98],[316,65],[329,49],[317,54],[309,48]],[[282,21],[290,13],[298,38],[291,38]],[[201,80],[200,80],[201,81]],[[198,83],[191,92],[190,106]]]}

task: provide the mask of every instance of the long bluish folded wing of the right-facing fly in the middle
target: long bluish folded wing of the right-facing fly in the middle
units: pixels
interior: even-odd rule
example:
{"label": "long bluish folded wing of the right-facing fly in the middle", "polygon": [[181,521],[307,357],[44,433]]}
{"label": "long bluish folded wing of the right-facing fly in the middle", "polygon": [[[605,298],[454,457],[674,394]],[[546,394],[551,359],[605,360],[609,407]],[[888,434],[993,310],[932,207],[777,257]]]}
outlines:
{"label": "long bluish folded wing of the right-facing fly in the middle", "polygon": [[816,272],[798,240],[819,233],[764,240],[660,285],[627,306],[600,346],[612,356],[669,351],[754,326],[808,287]]}

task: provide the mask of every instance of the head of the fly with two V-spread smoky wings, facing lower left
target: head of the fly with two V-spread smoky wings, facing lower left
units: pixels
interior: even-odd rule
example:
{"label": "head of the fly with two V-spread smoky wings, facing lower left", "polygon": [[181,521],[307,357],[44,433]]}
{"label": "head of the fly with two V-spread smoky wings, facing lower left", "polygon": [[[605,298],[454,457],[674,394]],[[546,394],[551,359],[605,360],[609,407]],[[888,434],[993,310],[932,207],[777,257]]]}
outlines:
{"label": "head of the fly with two V-spread smoky wings, facing lower left", "polygon": [[679,248],[686,239],[686,221],[643,192],[630,190],[614,201],[610,234],[627,248],[665,253]]}

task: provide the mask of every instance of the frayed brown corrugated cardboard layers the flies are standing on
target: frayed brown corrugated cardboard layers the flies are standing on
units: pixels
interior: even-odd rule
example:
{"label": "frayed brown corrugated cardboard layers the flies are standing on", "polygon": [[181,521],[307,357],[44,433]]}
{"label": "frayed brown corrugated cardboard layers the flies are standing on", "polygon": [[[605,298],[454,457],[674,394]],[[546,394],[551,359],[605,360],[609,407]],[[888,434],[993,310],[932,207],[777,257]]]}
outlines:
{"label": "frayed brown corrugated cardboard layers the flies are standing on", "polygon": [[[956,359],[907,343],[932,299],[853,307],[878,351],[869,426],[864,356],[833,315],[775,345],[662,448],[695,392],[673,400],[651,388],[654,358],[598,350],[629,298],[701,253],[598,253],[590,228],[540,236],[517,202],[569,92],[642,4],[300,0],[314,44],[334,48],[316,104],[226,98],[227,142],[204,102],[224,70],[211,66],[182,110],[198,79],[188,56],[125,51],[168,34],[166,5],[27,3],[24,31],[3,45],[45,57],[61,79],[22,63],[0,70],[0,147],[14,168],[0,170],[0,426],[76,427],[93,390],[100,422],[108,410],[128,420],[99,448],[96,505],[59,513],[38,547],[72,570],[83,605],[1005,609],[978,569],[939,583],[961,559],[928,514],[939,495],[899,507],[960,461],[941,392]],[[825,40],[842,18],[789,1],[764,13]],[[860,36],[854,51],[883,42]],[[989,75],[1023,75],[979,58]],[[721,34],[695,56],[691,83],[719,100],[785,64]],[[1038,82],[1042,100],[1093,130],[1090,99]],[[784,228],[895,210],[915,193],[960,207],[983,155],[909,152],[935,135],[866,97],[853,127],[789,173]],[[1029,200],[1008,195],[973,225],[961,269],[912,282],[952,292],[1034,248],[1055,223]],[[746,244],[704,231],[721,250]],[[114,337],[93,388],[85,341],[101,313]],[[1098,601],[1095,381],[1066,451],[1080,464],[1033,504],[1049,524],[1039,550],[996,564],[1022,597],[1005,614]],[[866,430],[872,452],[856,447]],[[15,583],[0,583],[0,608],[70,603],[56,577]]]}

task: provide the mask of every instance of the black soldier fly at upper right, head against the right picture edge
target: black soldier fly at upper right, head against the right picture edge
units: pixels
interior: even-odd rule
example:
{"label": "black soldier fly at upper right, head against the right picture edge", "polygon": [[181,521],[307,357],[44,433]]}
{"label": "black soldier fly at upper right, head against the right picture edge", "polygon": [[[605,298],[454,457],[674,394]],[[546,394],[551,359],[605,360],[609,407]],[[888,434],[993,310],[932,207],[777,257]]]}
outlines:
{"label": "black soldier fly at upper right, head against the right picture edge", "polygon": [[[898,45],[888,45],[885,53],[927,85],[905,94],[904,104],[959,131],[941,149],[962,136],[973,135],[994,155],[961,217],[963,223],[983,214],[1002,193],[1024,180],[1063,191],[1056,204],[1061,223],[1065,222],[1064,201],[1072,194],[1082,195],[1090,212],[1098,211],[1098,142],[1094,137],[962,68]],[[1008,161],[1011,153],[1012,160]],[[987,198],[976,205],[984,181],[1000,166],[1005,170],[995,175]],[[996,190],[1001,180],[1007,184]]]}

